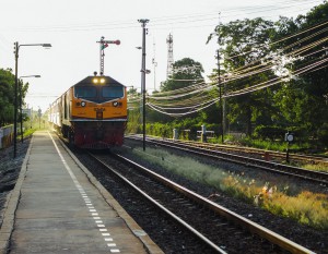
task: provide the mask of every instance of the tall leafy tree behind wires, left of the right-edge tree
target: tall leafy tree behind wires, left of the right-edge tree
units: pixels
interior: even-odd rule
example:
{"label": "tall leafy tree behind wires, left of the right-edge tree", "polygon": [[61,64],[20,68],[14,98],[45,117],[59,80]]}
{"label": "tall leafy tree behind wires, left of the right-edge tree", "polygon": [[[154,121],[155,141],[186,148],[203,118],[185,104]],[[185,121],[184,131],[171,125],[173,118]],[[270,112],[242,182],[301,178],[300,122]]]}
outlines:
{"label": "tall leafy tree behind wires, left of the right-edge tree", "polygon": [[[246,65],[250,68],[249,70],[257,70],[260,59],[271,51],[269,44],[273,32],[274,25],[271,21],[258,17],[218,25],[215,33],[209,36],[208,41],[213,36],[219,38],[220,52],[224,55],[223,68],[226,73],[234,75],[234,78],[225,86],[226,96],[254,84],[266,82],[272,76],[271,71],[247,75],[246,72],[239,70]],[[226,77],[229,78],[229,75]],[[274,112],[270,100],[271,93],[268,89],[231,97],[227,118],[236,129],[243,129],[250,135],[253,124],[270,121],[269,112]]]}

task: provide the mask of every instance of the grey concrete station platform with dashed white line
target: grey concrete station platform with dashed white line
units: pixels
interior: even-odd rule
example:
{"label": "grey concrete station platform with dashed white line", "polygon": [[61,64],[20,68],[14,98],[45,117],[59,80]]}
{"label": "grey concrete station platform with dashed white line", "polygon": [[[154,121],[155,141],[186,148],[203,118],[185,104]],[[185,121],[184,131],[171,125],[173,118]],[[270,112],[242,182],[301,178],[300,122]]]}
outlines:
{"label": "grey concrete station platform with dashed white line", "polygon": [[163,253],[80,161],[35,132],[0,228],[0,253]]}

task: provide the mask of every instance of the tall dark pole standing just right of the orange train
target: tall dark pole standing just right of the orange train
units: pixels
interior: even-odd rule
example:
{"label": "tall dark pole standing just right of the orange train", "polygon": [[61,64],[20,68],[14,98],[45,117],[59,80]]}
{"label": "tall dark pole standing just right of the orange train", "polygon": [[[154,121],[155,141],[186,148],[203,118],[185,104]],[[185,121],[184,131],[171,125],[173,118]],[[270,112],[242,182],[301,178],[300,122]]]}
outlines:
{"label": "tall dark pole standing just right of the orange train", "polygon": [[142,61],[141,61],[141,90],[142,90],[142,146],[145,150],[145,73],[149,73],[145,70],[145,24],[149,20],[138,20],[142,25]]}

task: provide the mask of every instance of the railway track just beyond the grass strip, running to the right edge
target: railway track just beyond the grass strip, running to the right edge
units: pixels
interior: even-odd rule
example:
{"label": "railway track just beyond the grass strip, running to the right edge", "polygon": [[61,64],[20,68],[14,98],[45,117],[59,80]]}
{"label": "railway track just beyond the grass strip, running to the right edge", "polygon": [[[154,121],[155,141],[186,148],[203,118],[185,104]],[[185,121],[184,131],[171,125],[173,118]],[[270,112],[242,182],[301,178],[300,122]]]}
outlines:
{"label": "railway track just beyond the grass strip, running to the right edge", "polygon": [[[133,141],[141,141],[140,137],[136,137],[136,136],[128,136],[126,138],[133,140]],[[194,146],[194,143],[186,144],[184,142],[161,141],[155,138],[148,138],[147,142],[152,145],[163,146],[171,149],[180,149],[187,153],[204,156],[212,159],[219,159],[219,160],[230,161],[234,164],[242,164],[247,167],[258,168],[266,171],[301,178],[307,181],[316,182],[324,186],[328,185],[328,173],[323,171],[306,170],[298,167],[292,167],[288,165],[266,161],[249,156],[242,156],[242,155],[225,153],[216,149],[208,149],[199,146]]]}

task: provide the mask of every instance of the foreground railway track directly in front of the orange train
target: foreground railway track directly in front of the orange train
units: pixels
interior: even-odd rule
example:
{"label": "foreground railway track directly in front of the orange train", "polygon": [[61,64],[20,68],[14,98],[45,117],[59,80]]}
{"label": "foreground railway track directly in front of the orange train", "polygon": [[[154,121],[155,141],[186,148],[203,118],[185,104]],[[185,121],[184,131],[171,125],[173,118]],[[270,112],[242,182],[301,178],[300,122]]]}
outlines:
{"label": "foreground railway track directly in front of the orange train", "polygon": [[202,242],[203,253],[313,253],[122,156],[90,156]]}

